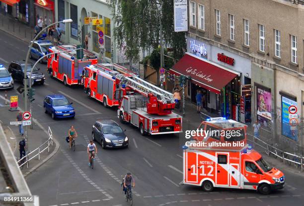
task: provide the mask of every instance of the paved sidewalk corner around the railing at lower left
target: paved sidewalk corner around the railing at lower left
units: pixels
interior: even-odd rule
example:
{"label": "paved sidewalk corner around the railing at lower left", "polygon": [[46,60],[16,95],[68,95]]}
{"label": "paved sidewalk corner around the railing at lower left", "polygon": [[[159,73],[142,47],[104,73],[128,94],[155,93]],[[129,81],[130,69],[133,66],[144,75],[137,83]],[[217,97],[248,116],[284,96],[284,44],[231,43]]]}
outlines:
{"label": "paved sidewalk corner around the railing at lower left", "polygon": [[[0,106],[0,121],[2,128],[6,135],[7,141],[9,142],[9,145],[14,153],[14,156],[19,158],[19,141],[23,138],[23,136],[19,135],[18,126],[10,125],[10,122],[16,121],[17,113],[17,111],[8,111],[8,106]],[[39,127],[39,125],[34,123],[34,128],[35,129],[31,130],[30,127],[28,127],[28,148],[26,149],[26,151],[33,151],[49,138],[45,131],[41,127]],[[46,145],[43,146],[43,148],[45,147]],[[38,166],[40,166],[51,156],[53,156],[56,153],[56,150],[58,149],[59,144],[57,145],[56,141],[54,141],[53,145],[50,146],[50,152],[48,152],[48,150],[46,149],[40,154],[40,160],[38,159],[38,156],[34,157],[32,160],[29,161],[28,168],[26,167],[26,165],[21,168],[23,175],[26,176],[31,173]],[[38,152],[34,152],[33,155],[37,153]],[[29,158],[31,158],[31,155],[29,155]]]}

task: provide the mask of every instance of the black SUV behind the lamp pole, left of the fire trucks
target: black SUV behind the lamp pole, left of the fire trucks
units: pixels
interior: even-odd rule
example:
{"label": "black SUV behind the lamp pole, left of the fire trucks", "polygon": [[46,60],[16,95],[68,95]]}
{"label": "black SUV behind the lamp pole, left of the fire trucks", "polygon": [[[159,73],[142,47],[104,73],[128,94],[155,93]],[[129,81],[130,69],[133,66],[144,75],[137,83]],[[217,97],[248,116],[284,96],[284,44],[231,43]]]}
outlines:
{"label": "black SUV behind the lamp pole, left of the fire trucks", "polygon": [[[11,73],[11,76],[14,80],[20,81],[23,83],[24,79],[24,67],[25,67],[25,61],[13,61],[10,63],[8,66],[8,71]],[[33,67],[32,63],[27,64],[27,78],[29,79],[30,77],[30,71]],[[45,81],[45,76],[42,72],[39,71],[40,69],[35,67],[32,72],[32,81],[31,84],[33,85],[34,83],[40,83],[43,84]],[[29,81],[28,81],[29,84]]]}

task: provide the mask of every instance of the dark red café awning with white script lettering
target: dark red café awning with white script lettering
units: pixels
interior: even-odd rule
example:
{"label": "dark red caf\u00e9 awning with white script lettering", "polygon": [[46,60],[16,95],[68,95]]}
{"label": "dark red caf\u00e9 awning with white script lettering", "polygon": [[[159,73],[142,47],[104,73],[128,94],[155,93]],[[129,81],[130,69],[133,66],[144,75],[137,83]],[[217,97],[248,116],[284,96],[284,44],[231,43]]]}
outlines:
{"label": "dark red caf\u00e9 awning with white script lettering", "polygon": [[229,71],[208,60],[198,59],[196,56],[186,53],[181,60],[176,63],[170,73],[175,75],[191,76],[191,82],[200,85],[212,92],[219,94],[239,73]]}

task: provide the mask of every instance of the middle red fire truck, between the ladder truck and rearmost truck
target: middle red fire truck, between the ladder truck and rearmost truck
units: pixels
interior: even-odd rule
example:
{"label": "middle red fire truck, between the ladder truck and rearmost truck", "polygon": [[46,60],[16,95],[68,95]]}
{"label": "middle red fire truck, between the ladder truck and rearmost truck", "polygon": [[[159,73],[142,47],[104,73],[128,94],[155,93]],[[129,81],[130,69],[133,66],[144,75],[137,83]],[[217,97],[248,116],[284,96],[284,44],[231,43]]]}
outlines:
{"label": "middle red fire truck, between the ladder truck and rearmost truck", "polygon": [[84,68],[82,74],[81,84],[87,96],[102,102],[104,107],[118,106],[120,79],[135,75],[131,70],[115,64],[90,65]]}

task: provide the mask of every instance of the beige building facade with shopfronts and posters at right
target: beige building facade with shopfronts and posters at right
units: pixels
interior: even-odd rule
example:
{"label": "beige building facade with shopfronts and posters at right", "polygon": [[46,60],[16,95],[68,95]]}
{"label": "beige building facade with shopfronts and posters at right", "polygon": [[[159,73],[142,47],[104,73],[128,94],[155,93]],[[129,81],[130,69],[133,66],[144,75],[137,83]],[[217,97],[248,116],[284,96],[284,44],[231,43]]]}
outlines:
{"label": "beige building facade with shopfronts and posters at right", "polygon": [[304,1],[188,0],[188,9],[187,42],[206,49],[197,56],[240,73],[240,121],[258,120],[266,137],[303,145],[288,108],[304,117]]}

